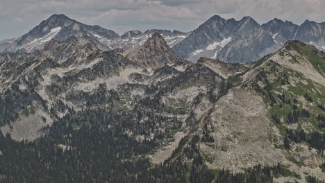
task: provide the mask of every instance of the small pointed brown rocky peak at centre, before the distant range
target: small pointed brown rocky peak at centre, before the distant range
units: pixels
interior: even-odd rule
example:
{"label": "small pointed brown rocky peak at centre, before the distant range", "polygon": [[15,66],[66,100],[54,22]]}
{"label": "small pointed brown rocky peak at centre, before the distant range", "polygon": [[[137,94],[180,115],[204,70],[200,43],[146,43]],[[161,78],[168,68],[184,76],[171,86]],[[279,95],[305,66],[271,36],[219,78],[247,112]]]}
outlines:
{"label": "small pointed brown rocky peak at centre, before the distant range", "polygon": [[182,61],[159,33],[153,33],[143,46],[135,48],[126,57],[143,67],[162,67]]}

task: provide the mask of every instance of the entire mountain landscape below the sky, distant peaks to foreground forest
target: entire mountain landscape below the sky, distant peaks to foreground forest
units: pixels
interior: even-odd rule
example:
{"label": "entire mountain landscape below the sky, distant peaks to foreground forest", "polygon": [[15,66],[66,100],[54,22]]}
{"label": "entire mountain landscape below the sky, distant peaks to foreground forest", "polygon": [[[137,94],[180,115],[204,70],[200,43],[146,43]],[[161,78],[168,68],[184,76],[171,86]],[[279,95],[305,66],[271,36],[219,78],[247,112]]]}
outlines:
{"label": "entire mountain landscape below the sky, distant peaks to foreground forest", "polygon": [[290,38],[316,27],[214,16],[171,48],[184,33],[41,25],[0,53],[0,182],[325,180],[325,53]]}

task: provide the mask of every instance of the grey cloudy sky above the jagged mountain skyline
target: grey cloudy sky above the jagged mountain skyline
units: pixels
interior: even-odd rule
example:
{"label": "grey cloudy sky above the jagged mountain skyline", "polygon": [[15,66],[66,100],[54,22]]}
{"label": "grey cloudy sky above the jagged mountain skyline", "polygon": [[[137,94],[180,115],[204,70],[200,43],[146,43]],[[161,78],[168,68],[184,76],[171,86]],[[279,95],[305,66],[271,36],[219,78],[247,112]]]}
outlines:
{"label": "grey cloudy sky above the jagged mountain skyline", "polygon": [[0,0],[0,40],[23,35],[54,13],[121,34],[149,28],[190,31],[213,15],[251,16],[260,24],[274,17],[321,22],[324,9],[325,0]]}

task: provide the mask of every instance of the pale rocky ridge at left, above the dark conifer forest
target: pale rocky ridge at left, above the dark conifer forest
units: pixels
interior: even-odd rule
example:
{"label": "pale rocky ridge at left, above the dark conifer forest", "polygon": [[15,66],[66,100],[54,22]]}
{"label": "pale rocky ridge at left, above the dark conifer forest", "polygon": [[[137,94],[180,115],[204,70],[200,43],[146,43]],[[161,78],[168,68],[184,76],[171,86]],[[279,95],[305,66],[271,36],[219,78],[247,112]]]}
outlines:
{"label": "pale rocky ridge at left, above the dark conifer forest", "polygon": [[[91,89],[99,85],[98,80],[113,82],[108,87],[115,87],[128,82],[128,75],[124,80],[114,76],[143,69],[115,51],[102,51],[92,41],[90,37],[70,37],[63,42],[49,41],[42,51],[1,53],[1,125],[8,124],[1,131],[19,140],[35,139],[44,126],[65,114],[65,109],[78,108],[65,98],[70,90]],[[67,107],[54,110],[58,103]],[[42,122],[42,117],[47,123]]]}

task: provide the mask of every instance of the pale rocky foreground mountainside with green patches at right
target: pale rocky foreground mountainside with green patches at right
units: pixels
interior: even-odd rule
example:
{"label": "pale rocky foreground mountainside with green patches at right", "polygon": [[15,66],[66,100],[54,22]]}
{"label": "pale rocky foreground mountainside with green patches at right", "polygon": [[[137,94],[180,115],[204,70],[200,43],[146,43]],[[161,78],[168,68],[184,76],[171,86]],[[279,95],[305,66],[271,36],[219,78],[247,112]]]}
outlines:
{"label": "pale rocky foreground mountainside with green patches at right", "polygon": [[290,41],[241,73],[206,117],[217,142],[214,148],[211,143],[200,146],[215,158],[210,167],[282,162],[297,175],[279,182],[304,182],[308,175],[324,179],[317,168],[325,148],[319,118],[324,111],[317,107],[325,102],[324,59],[313,46]]}

